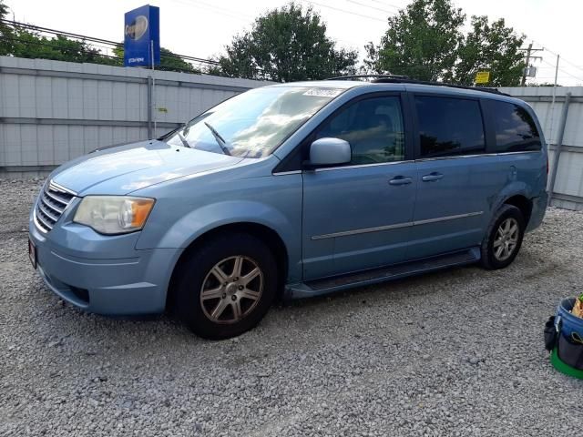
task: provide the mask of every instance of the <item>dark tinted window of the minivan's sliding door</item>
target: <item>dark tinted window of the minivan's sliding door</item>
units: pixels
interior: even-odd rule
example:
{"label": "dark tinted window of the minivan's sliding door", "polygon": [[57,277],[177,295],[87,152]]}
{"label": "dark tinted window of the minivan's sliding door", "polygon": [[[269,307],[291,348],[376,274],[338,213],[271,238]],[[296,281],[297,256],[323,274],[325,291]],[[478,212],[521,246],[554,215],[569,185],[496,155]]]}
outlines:
{"label": "dark tinted window of the minivan's sliding door", "polygon": [[482,111],[476,100],[415,97],[421,157],[481,153],[486,149]]}

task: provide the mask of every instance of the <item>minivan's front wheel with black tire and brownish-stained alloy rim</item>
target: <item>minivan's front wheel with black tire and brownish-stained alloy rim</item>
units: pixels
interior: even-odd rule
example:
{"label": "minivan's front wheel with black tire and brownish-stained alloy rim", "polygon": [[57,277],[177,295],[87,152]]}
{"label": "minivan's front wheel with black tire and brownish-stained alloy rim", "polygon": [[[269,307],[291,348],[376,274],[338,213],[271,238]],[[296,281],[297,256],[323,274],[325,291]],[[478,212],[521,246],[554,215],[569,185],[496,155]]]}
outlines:
{"label": "minivan's front wheel with black tire and brownish-stained alloy rim", "polygon": [[265,316],[277,284],[277,264],[261,239],[244,233],[221,235],[181,262],[175,310],[199,337],[236,337]]}

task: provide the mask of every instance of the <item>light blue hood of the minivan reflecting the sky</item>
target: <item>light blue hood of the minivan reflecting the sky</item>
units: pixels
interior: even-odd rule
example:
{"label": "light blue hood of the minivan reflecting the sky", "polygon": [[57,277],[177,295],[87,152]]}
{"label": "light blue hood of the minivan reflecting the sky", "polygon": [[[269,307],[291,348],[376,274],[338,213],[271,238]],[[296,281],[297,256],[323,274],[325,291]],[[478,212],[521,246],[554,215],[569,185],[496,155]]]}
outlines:
{"label": "light blue hood of the minivan reflecting the sky", "polygon": [[121,195],[169,179],[230,167],[242,159],[151,140],[74,159],[57,168],[51,178],[81,196]]}

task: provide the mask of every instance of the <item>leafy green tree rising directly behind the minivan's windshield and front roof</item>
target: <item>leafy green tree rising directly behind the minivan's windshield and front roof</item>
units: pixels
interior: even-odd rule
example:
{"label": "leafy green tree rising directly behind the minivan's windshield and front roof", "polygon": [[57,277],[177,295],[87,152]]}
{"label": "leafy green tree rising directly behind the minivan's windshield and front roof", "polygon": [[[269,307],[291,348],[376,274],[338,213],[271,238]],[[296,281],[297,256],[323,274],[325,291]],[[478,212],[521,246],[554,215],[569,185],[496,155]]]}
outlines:
{"label": "leafy green tree rising directly behind the minivan's windshield and front roof", "polygon": [[218,60],[226,76],[290,82],[353,73],[357,56],[336,48],[312,8],[291,3],[258,17]]}

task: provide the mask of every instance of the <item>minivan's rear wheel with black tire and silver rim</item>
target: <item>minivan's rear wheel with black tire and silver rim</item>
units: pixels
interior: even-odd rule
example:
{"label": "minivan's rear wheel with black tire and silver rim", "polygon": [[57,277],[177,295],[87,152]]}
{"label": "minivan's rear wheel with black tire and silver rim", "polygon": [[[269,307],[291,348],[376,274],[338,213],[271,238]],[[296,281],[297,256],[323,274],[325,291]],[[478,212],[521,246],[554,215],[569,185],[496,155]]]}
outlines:
{"label": "minivan's rear wheel with black tire and silver rim", "polygon": [[525,219],[520,209],[512,205],[502,205],[496,211],[482,242],[482,267],[496,270],[509,266],[517,258],[525,228]]}

